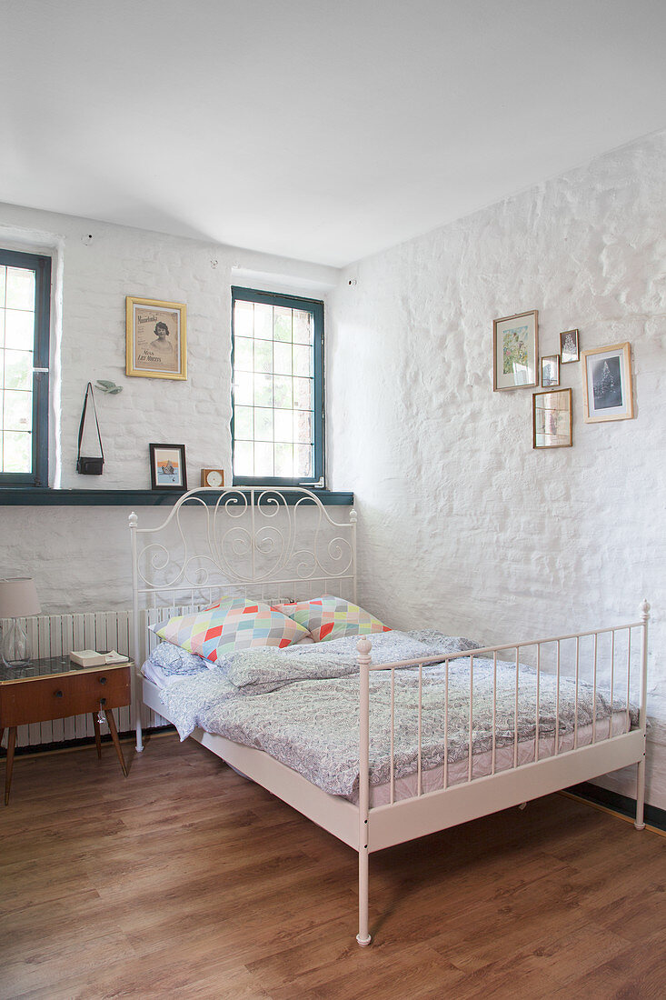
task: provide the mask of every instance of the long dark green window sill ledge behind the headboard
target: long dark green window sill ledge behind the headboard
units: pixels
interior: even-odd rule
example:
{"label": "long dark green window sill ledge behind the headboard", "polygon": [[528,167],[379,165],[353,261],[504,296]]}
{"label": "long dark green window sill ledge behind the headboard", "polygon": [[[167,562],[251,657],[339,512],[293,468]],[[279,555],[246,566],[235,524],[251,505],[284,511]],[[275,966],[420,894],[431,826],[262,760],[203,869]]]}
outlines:
{"label": "long dark green window sill ledge behind the headboard", "polygon": [[[243,487],[236,487],[243,491]],[[276,487],[277,489],[277,487]],[[284,492],[293,506],[302,494]],[[351,507],[354,494],[316,490],[325,507]],[[177,490],[52,490],[44,487],[0,488],[0,507],[171,507],[183,494]],[[206,496],[206,503],[215,503],[217,493]]]}

